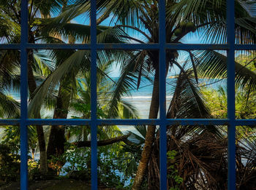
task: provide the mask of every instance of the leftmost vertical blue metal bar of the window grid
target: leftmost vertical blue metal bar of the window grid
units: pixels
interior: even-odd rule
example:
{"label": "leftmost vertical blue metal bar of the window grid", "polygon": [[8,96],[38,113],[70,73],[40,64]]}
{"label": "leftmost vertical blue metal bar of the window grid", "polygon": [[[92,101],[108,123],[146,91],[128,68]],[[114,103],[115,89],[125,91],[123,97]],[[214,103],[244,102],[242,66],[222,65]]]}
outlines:
{"label": "leftmost vertical blue metal bar of the window grid", "polygon": [[20,36],[20,188],[28,189],[28,135],[27,135],[27,50],[28,42],[28,1],[21,1],[21,36]]}

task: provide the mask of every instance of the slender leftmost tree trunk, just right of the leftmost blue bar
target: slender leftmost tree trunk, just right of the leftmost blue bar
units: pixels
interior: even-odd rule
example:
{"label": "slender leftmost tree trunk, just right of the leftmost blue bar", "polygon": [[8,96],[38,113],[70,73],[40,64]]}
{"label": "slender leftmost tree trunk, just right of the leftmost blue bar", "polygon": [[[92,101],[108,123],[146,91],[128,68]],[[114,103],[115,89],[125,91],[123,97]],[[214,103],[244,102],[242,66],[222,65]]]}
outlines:
{"label": "slender leftmost tree trunk, just right of the leftmost blue bar", "polygon": [[[34,79],[33,69],[32,69],[32,52],[29,51],[29,60],[28,60],[28,84],[29,84],[29,94],[30,97],[33,96],[33,92],[37,89],[37,83]],[[40,119],[40,113],[35,113],[37,119]],[[46,147],[45,147],[45,135],[44,130],[41,125],[37,125],[37,139],[39,143],[39,151],[40,151],[40,172],[47,173],[48,172],[48,165],[47,165],[47,157],[46,157]]]}

